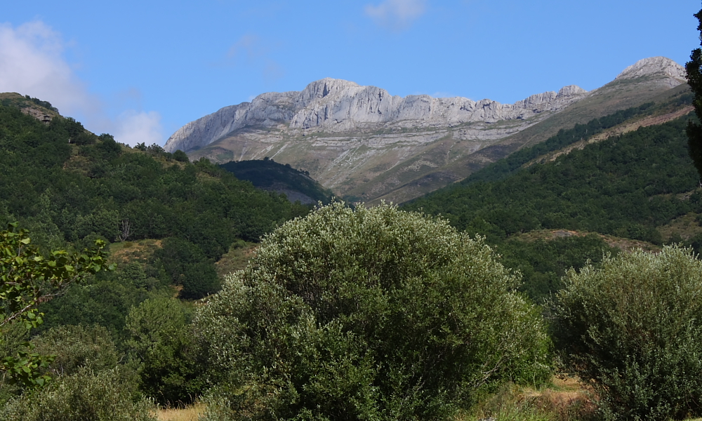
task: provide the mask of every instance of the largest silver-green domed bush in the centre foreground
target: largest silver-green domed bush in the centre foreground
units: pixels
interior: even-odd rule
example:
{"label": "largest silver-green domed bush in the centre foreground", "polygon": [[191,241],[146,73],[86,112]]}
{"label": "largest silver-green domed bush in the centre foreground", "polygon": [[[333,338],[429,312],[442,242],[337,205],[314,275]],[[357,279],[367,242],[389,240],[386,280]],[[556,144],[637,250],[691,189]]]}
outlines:
{"label": "largest silver-green domed bush in the centre foreground", "polygon": [[550,375],[539,310],[481,239],[395,206],[317,208],[266,236],[196,316],[210,420],[445,420]]}

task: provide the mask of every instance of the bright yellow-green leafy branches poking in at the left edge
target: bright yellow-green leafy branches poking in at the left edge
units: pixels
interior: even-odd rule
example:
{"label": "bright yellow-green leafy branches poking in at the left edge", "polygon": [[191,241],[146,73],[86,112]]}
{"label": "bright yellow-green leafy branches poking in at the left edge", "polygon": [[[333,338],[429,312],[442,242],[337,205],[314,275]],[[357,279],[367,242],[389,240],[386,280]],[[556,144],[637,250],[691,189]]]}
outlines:
{"label": "bright yellow-green leafy branches poking in at the left edge", "polygon": [[[44,316],[37,312],[39,302],[64,293],[86,276],[114,269],[107,264],[104,241],[95,241],[95,248],[83,253],[55,250],[45,257],[30,244],[27,232],[17,226],[11,223],[0,232],[0,328],[8,323],[22,323],[27,330],[36,328]],[[46,367],[51,359],[32,352],[29,343],[26,347],[18,356],[6,356],[0,363],[3,378],[27,386],[44,385],[48,377],[40,375],[38,369]]]}

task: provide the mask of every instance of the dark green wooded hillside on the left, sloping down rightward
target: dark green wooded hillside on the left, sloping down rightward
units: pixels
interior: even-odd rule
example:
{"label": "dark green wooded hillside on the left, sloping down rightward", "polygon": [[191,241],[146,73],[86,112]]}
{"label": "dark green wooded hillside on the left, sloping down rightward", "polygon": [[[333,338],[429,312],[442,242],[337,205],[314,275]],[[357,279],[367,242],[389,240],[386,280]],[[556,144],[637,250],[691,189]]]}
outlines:
{"label": "dark green wooded hillside on the left, sloping down rightward", "polygon": [[46,248],[163,239],[152,263],[180,262],[159,277],[186,298],[216,290],[213,262],[234,241],[258,241],[309,210],[206,160],[157,145],[131,149],[73,119],[41,123],[16,107],[0,107],[0,173],[4,225],[18,220]]}

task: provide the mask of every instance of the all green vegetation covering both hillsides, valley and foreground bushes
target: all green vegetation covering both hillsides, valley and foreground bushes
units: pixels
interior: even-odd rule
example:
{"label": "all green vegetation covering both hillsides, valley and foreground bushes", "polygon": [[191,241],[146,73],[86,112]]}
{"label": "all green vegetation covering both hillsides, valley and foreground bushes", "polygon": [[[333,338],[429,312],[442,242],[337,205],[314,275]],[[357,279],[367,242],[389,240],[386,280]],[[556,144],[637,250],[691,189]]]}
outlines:
{"label": "all green vegetation covering both hillsides, valley and foreground bushes", "polygon": [[[153,420],[195,403],[210,421],[700,416],[702,236],[663,229],[700,222],[696,120],[541,159],[690,100],[576,125],[375,208],[291,203],[232,168],[4,103],[0,419]],[[252,243],[244,270],[218,275]],[[597,410],[501,412],[509,387],[558,373],[588,382]]]}

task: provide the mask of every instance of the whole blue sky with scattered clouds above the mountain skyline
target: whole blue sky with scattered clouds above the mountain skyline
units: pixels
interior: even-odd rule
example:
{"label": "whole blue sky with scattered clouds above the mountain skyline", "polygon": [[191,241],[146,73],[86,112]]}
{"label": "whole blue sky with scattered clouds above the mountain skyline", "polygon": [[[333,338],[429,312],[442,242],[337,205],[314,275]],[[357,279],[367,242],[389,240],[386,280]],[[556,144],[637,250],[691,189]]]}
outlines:
{"label": "whole blue sky with scattered clouds above the mountain skyline", "polygon": [[14,1],[0,92],[163,145],[183,124],[334,77],[392,95],[515,102],[592,90],[699,46],[692,0]]}

